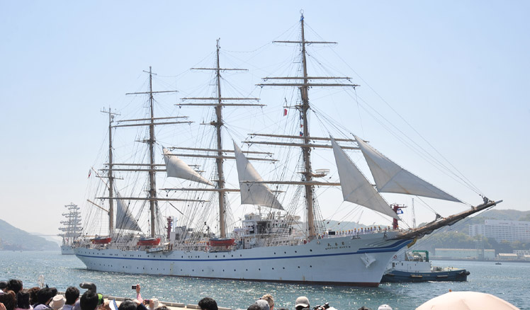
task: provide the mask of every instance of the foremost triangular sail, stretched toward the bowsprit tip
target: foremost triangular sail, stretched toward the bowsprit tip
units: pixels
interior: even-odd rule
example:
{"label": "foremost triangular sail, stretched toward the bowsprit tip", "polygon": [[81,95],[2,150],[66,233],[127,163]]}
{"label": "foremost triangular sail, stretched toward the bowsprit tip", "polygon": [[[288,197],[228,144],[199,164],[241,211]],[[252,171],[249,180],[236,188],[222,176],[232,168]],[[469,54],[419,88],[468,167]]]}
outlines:
{"label": "foremost triangular sail, stretched toward the bowsprit tip", "polygon": [[401,168],[355,136],[380,193],[399,193],[461,202],[436,186]]}

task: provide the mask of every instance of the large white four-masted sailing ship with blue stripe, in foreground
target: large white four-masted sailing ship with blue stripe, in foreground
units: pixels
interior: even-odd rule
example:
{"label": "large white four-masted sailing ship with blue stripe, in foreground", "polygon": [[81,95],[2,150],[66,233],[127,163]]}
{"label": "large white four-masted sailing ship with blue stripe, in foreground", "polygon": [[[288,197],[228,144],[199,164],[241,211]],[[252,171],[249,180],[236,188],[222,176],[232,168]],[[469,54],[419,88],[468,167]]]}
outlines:
{"label": "large white four-masted sailing ship with blue stripe, in foreground", "polygon": [[[284,114],[290,114],[289,119],[294,120],[293,124],[285,124],[285,132],[249,132],[243,144],[235,139],[225,142],[227,134],[235,137],[240,130],[225,123],[225,110],[255,113],[256,108],[264,105],[258,98],[222,96],[222,83],[227,83],[221,74],[242,69],[220,67],[219,41],[215,65],[194,68],[213,72],[215,90],[210,96],[182,98],[183,102],[177,105],[179,112],[198,107],[206,110],[203,118],[211,117],[210,121],[203,121],[196,132],[188,130],[195,131],[195,127],[187,117],[155,117],[154,96],[171,91],[153,91],[151,69],[147,71],[149,91],[133,93],[147,96],[145,116],[115,120],[117,113],[110,109],[103,111],[109,117],[108,158],[105,167],[94,173],[101,184],[98,189],[105,194],[87,200],[88,205],[94,207],[86,217],[92,225],[85,226],[84,240],[74,249],[87,268],[148,275],[375,287],[388,262],[401,248],[441,226],[499,203],[483,197],[483,203],[467,211],[450,217],[437,216],[433,222],[419,228],[400,229],[398,207],[391,207],[381,193],[415,195],[451,203],[461,200],[401,168],[361,137],[337,131],[339,126],[333,123],[328,127],[320,126],[326,128],[327,134],[310,134],[317,132],[310,127],[310,115],[315,114],[322,121],[310,101],[310,89],[354,90],[358,85],[351,83],[348,77],[308,74],[306,47],[332,42],[306,40],[303,16],[299,33],[299,40],[276,41],[300,47],[297,73],[268,76],[259,84],[261,88],[294,90],[293,102],[285,99],[282,107]],[[165,144],[167,133],[155,137],[159,128],[179,130],[181,124],[189,127],[176,136],[187,142],[193,140],[191,147]],[[212,129],[211,135],[204,130],[208,126]],[[113,135],[117,130],[130,127],[141,128],[135,142],[145,144],[147,151],[130,151],[129,158],[139,161],[116,161]],[[251,151],[251,147],[261,148]],[[334,160],[328,162],[335,166],[334,174],[329,174],[327,168],[312,167],[312,153],[317,150],[329,154],[332,151]],[[360,151],[366,159],[375,185],[346,153],[351,150]],[[158,154],[162,156],[157,157]],[[122,158],[128,159],[127,156]],[[260,170],[261,166],[268,168]],[[160,177],[162,172],[167,178],[161,180],[157,175]],[[230,175],[236,172],[237,180],[234,177],[236,181],[232,182]],[[133,176],[146,173],[147,181],[137,181],[137,178],[133,181]],[[334,181],[331,180],[333,176]],[[180,186],[157,188],[157,183],[166,185],[173,180]],[[239,186],[230,187],[232,183]],[[328,229],[317,199],[319,190],[327,188],[340,188],[344,201],[382,214],[386,220],[393,221],[393,226],[354,231]],[[137,193],[147,195],[138,197]],[[230,208],[235,204],[234,195],[240,200],[239,207],[252,206],[252,212],[239,220]],[[164,217],[164,208],[178,215]],[[142,210],[148,210],[149,216]],[[97,226],[101,221],[95,220],[96,216],[108,218],[108,226]],[[146,222],[150,226],[148,234],[142,231]],[[90,231],[94,228],[99,229],[99,234]]]}

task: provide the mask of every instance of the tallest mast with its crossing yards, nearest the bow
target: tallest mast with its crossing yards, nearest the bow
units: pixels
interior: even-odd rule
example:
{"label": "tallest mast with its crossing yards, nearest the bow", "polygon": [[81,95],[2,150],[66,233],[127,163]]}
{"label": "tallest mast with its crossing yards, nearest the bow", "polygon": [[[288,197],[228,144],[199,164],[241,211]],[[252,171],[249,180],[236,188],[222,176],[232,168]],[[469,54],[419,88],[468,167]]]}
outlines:
{"label": "tallest mast with its crossing yards, nearest the bow", "polygon": [[[309,88],[310,86],[318,86],[318,87],[326,87],[326,86],[349,86],[349,87],[355,87],[358,86],[356,84],[315,84],[310,83],[311,80],[321,80],[321,79],[347,79],[349,81],[350,78],[348,77],[325,77],[325,76],[308,76],[308,63],[307,63],[307,51],[305,50],[306,45],[309,44],[335,44],[336,42],[317,42],[317,41],[306,41],[305,40],[305,30],[304,30],[304,16],[303,11],[300,11],[300,32],[301,32],[301,40],[300,41],[274,41],[277,43],[295,43],[299,44],[302,50],[302,69],[303,69],[303,76],[298,77],[289,77],[289,76],[283,76],[283,77],[267,77],[264,78],[264,80],[268,79],[293,79],[293,80],[300,80],[301,83],[273,83],[273,84],[258,84],[259,86],[294,86],[298,87],[300,90],[300,97],[302,104],[297,105],[295,108],[297,108],[300,111],[300,118],[302,120],[302,126],[303,126],[303,144],[298,144],[299,147],[302,149],[303,154],[303,180],[300,184],[304,185],[305,188],[305,205],[307,207],[307,214],[308,214],[308,238],[312,239],[316,236],[317,231],[315,229],[315,208],[313,207],[314,204],[314,181],[313,177],[315,176],[315,173],[312,172],[311,168],[311,148],[312,144],[310,143],[313,137],[310,137],[309,135],[309,111],[310,111],[310,101],[309,101]],[[271,137],[272,135],[269,135]],[[297,139],[297,137],[289,137],[291,139]],[[329,138],[318,138],[318,139],[325,139],[329,141]],[[274,143],[270,143],[274,144]],[[289,145],[297,145],[297,144],[289,144]],[[325,146],[327,148],[330,148],[328,146]]]}

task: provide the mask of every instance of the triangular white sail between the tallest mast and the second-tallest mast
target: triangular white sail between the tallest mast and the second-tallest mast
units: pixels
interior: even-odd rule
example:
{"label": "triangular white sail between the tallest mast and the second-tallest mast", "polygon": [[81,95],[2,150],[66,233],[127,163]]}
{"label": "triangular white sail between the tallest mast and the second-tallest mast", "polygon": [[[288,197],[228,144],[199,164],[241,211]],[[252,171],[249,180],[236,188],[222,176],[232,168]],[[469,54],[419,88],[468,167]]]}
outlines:
{"label": "triangular white sail between the tallest mast and the second-tallest mast", "polygon": [[237,165],[237,176],[239,178],[239,190],[241,193],[241,203],[243,205],[262,205],[273,209],[281,209],[281,203],[276,196],[269,190],[267,185],[261,182],[263,178],[259,176],[252,163],[249,163],[247,157],[234,142],[235,161]]}

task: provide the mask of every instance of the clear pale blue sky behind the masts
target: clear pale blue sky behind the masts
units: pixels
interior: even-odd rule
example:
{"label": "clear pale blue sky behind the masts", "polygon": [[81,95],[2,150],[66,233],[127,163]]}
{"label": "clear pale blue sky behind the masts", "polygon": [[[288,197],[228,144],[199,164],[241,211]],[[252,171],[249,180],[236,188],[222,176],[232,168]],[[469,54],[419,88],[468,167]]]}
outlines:
{"label": "clear pale blue sky behind the masts", "polygon": [[[125,93],[147,91],[142,71],[150,66],[157,87],[180,91],[161,100],[178,103],[208,86],[207,74],[189,68],[208,65],[220,38],[222,66],[248,66],[249,77],[235,76],[237,89],[273,98],[254,84],[283,73],[273,68],[293,48],[271,41],[296,39],[300,9],[308,40],[339,42],[332,52],[315,47],[311,57],[338,60],[334,72],[361,85],[346,110],[323,110],[397,163],[430,175],[435,169],[383,130],[395,122],[399,134],[436,146],[429,154],[480,193],[504,200],[497,208],[530,210],[526,1],[2,1],[0,218],[26,231],[59,232],[64,205],[86,199],[87,174],[106,139],[101,109],[125,114],[133,104]],[[362,101],[384,118],[371,122]],[[281,113],[278,102],[264,103]],[[473,205],[481,201],[453,180],[427,180]],[[323,213],[334,216],[327,207]],[[417,222],[433,219],[416,213]]]}

